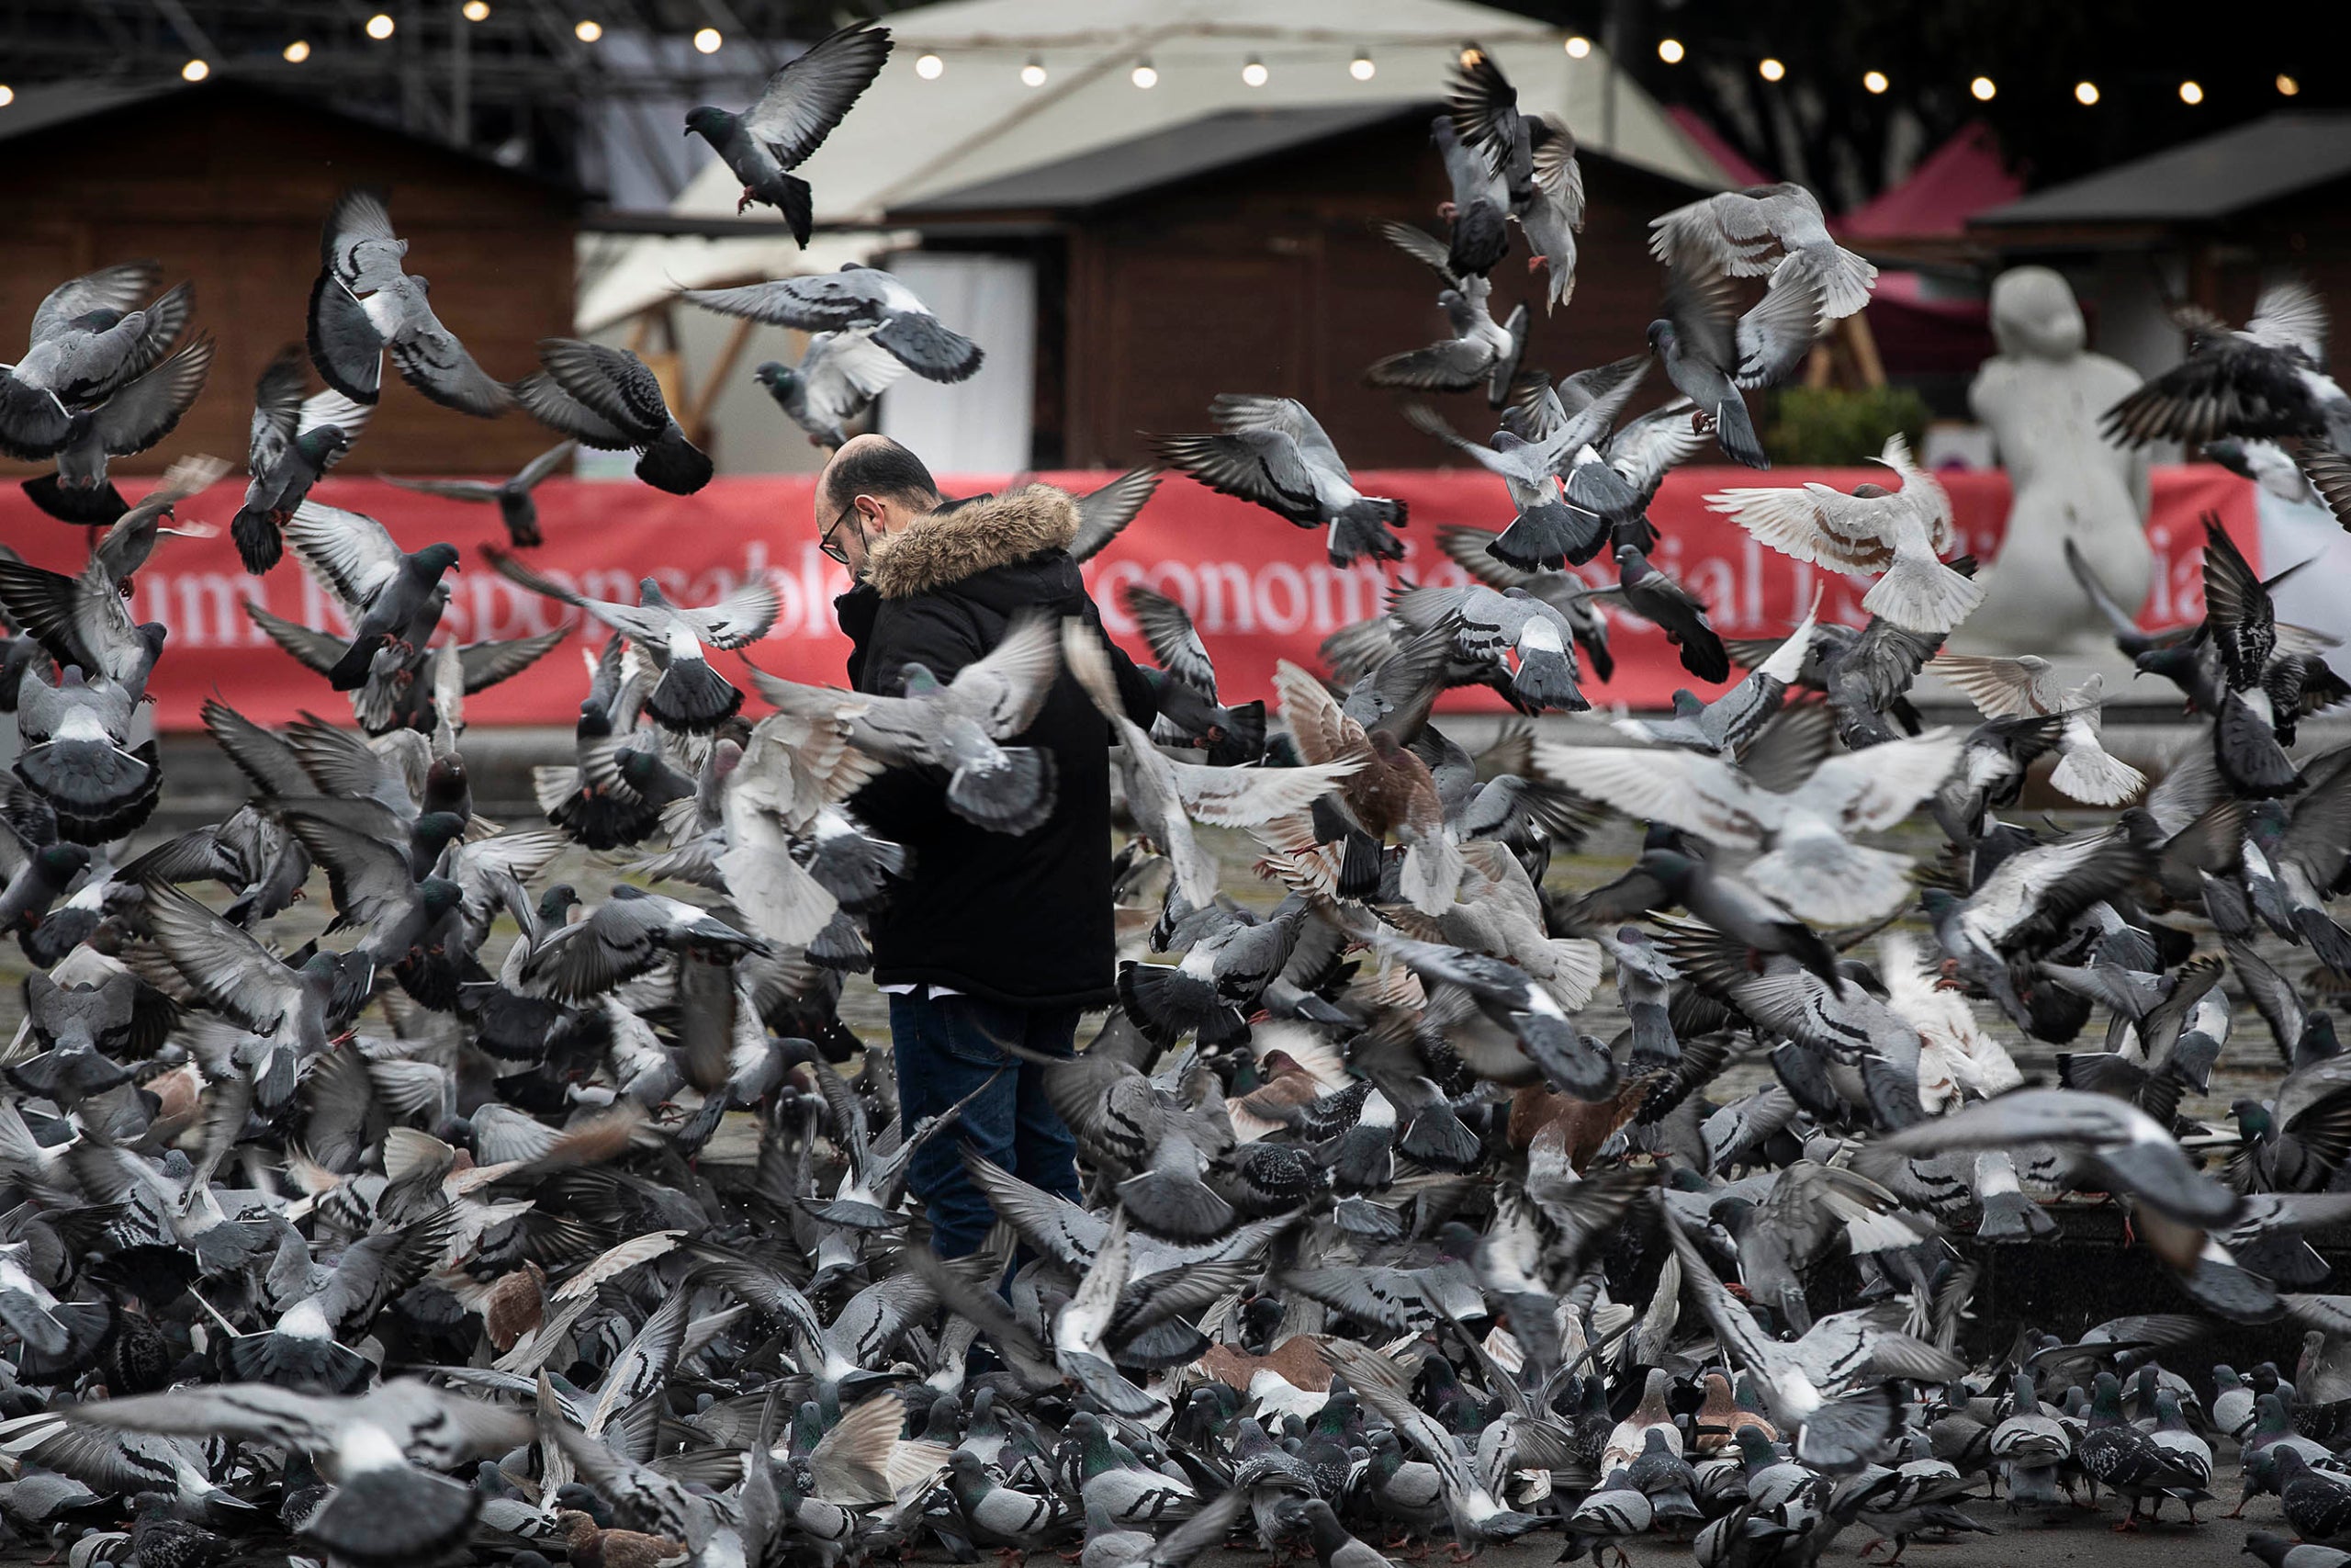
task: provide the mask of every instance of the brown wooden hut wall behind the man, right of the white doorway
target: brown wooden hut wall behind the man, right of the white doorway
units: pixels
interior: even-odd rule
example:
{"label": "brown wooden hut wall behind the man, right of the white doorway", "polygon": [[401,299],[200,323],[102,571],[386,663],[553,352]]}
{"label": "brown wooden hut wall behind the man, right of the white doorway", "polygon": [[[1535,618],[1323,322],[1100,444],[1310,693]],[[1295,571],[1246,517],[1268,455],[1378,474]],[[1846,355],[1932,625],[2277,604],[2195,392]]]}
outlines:
{"label": "brown wooden hut wall behind the man, right of the white doorway", "polygon": [[[1601,158],[1585,186],[1575,299],[1545,315],[1516,235],[1493,277],[1495,315],[1528,301],[1528,364],[1559,376],[1641,353],[1662,284],[1648,221],[1695,195]],[[1070,219],[1070,461],[1143,461],[1136,430],[1206,430],[1230,390],[1300,397],[1364,468],[1458,463],[1361,381],[1444,334],[1444,282],[1373,223],[1444,233],[1446,195],[1425,127],[1399,122]],[[1636,407],[1662,397],[1660,376]],[[1481,397],[1436,402],[1462,433],[1495,425]]]}

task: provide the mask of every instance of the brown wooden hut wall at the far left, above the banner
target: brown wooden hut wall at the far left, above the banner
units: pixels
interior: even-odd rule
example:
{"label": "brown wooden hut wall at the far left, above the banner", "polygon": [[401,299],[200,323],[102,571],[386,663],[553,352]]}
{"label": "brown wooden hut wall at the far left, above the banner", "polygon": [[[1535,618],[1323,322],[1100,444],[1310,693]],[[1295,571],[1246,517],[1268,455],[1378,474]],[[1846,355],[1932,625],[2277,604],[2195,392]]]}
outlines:
{"label": "brown wooden hut wall at the far left, above the banner", "polygon": [[[162,153],[162,155],[160,155]],[[188,451],[242,465],[252,390],[299,343],[317,235],[336,193],[381,186],[409,270],[491,376],[536,367],[571,331],[574,202],[545,183],[287,99],[219,85],[101,120],[16,136],[0,158],[0,357],[21,353],[40,296],[78,270],[153,256],[195,280],[195,329],[219,341],[212,381],[165,442],[120,463],[158,473]],[[348,463],[371,473],[505,473],[557,437],[510,414],[440,409],[390,374]],[[315,381],[313,381],[315,386]],[[33,465],[0,463],[0,473]]]}

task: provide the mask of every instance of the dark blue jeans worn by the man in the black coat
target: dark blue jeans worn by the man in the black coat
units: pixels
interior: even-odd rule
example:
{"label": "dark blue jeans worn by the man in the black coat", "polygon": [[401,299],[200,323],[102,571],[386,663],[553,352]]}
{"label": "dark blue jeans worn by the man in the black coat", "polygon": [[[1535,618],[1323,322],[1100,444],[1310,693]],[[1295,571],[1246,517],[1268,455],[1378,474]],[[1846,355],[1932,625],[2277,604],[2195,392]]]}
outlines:
{"label": "dark blue jeans worn by the man in the black coat", "polygon": [[[980,1091],[957,1126],[943,1128],[915,1152],[907,1171],[907,1187],[931,1215],[931,1248],[940,1258],[980,1251],[997,1222],[994,1208],[964,1173],[966,1143],[1032,1187],[1077,1201],[1077,1143],[1044,1098],[1046,1070],[999,1044],[1070,1056],[1077,1009],[910,994],[889,999],[889,1032],[898,1063],[898,1119],[907,1133]],[[997,1079],[987,1084],[992,1072]]]}

